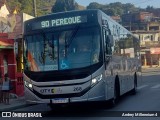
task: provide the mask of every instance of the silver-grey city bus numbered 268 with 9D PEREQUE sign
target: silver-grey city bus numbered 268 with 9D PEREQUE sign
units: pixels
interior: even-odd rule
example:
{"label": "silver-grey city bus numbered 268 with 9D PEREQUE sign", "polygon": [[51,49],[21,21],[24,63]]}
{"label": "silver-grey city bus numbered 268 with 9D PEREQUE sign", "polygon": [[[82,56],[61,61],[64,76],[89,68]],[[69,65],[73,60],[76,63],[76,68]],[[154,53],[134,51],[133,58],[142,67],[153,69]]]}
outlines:
{"label": "silver-grey city bus numbered 268 with 9D PEREQUE sign", "polygon": [[137,91],[140,41],[100,10],[49,14],[24,24],[27,103],[109,101]]}

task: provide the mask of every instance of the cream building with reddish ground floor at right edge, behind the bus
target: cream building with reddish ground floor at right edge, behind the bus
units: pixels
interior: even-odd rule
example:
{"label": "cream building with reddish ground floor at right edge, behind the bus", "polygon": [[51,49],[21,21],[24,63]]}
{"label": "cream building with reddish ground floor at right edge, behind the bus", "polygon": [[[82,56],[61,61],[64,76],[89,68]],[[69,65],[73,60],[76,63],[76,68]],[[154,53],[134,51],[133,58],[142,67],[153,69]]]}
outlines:
{"label": "cream building with reddish ground floor at right edge, behind the bus", "polygon": [[133,31],[140,39],[142,66],[160,66],[160,31]]}

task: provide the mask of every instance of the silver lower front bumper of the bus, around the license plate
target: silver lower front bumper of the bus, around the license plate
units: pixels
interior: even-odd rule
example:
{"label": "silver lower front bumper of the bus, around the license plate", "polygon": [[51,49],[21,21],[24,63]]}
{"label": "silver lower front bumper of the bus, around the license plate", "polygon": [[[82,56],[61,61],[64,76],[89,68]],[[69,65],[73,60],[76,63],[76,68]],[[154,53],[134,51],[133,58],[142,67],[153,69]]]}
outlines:
{"label": "silver lower front bumper of the bus, around the license plate", "polygon": [[100,81],[94,87],[91,87],[85,94],[79,97],[41,99],[28,88],[25,89],[25,97],[27,104],[67,104],[87,101],[104,101],[106,98],[105,95],[106,94],[104,81]]}

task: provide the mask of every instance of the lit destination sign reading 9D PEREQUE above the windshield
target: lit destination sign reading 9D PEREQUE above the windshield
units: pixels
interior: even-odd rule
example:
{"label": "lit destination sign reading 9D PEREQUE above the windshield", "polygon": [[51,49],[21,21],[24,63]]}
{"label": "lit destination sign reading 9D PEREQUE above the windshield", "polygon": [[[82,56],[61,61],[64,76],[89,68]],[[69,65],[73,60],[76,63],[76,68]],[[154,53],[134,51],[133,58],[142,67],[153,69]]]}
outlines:
{"label": "lit destination sign reading 9D PEREQUE above the windshield", "polygon": [[43,21],[36,22],[36,23],[32,24],[32,30],[65,26],[65,25],[72,25],[72,24],[80,24],[80,23],[85,23],[85,22],[87,22],[87,16],[85,16],[85,15],[84,16],[73,16],[73,17],[66,17],[66,18],[43,20]]}

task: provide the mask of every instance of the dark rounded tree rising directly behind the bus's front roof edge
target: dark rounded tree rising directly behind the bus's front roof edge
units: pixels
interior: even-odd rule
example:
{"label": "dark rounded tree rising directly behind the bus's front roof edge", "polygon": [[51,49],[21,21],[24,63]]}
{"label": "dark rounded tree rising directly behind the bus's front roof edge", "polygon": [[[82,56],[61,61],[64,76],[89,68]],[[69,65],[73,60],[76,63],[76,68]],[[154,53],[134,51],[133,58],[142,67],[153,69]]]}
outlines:
{"label": "dark rounded tree rising directly behind the bus's front roof edge", "polygon": [[70,10],[78,10],[75,0],[57,0],[51,11],[56,13]]}

